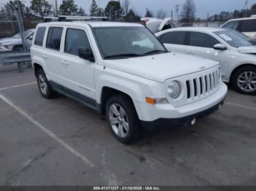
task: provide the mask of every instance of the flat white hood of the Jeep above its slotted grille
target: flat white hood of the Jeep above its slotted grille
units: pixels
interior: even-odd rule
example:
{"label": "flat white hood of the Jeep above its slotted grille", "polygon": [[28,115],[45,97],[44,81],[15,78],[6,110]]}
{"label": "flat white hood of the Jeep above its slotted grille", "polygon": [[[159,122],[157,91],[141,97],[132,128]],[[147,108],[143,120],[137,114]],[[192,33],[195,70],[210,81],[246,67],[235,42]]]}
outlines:
{"label": "flat white hood of the Jeep above its slotted grille", "polygon": [[105,60],[105,66],[157,82],[219,65],[216,61],[172,52],[129,59]]}

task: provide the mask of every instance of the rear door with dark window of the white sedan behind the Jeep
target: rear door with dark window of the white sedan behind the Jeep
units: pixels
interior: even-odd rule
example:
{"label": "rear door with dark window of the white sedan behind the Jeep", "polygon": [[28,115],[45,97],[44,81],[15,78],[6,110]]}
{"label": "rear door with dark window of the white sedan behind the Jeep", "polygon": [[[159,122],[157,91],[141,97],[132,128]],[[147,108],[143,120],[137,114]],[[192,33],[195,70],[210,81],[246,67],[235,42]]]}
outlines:
{"label": "rear door with dark window of the white sedan behind the Jeep", "polygon": [[186,31],[171,31],[159,36],[159,41],[162,42],[167,50],[171,52],[186,52]]}

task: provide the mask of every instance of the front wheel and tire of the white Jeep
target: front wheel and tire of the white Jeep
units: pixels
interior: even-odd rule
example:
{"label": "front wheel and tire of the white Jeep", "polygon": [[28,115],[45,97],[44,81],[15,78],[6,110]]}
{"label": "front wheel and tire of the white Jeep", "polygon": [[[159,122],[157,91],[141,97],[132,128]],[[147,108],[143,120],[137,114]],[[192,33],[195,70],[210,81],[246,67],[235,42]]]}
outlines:
{"label": "front wheel and tire of the white Jeep", "polygon": [[132,101],[126,95],[114,95],[106,104],[108,126],[118,141],[131,144],[141,136],[140,121]]}

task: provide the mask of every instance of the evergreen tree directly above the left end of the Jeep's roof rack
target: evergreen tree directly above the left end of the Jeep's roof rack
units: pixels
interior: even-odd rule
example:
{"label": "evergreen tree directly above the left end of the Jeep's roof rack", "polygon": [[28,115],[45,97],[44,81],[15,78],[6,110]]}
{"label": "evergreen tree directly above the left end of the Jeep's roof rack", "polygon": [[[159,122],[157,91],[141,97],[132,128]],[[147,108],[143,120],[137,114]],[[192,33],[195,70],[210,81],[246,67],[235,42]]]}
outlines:
{"label": "evergreen tree directly above the left end of the Jeep's roof rack", "polygon": [[30,9],[34,11],[35,14],[41,17],[48,16],[51,14],[51,5],[46,0],[31,0]]}

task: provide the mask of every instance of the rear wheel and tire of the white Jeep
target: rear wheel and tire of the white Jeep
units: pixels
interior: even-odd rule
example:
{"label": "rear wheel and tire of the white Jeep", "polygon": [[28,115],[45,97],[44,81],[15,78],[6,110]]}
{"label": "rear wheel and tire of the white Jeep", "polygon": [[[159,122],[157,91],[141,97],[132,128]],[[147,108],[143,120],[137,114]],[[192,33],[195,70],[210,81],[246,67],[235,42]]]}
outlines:
{"label": "rear wheel and tire of the white Jeep", "polygon": [[39,87],[39,92],[44,98],[50,99],[56,96],[56,92],[50,87],[50,83],[42,69],[37,71],[37,85]]}

